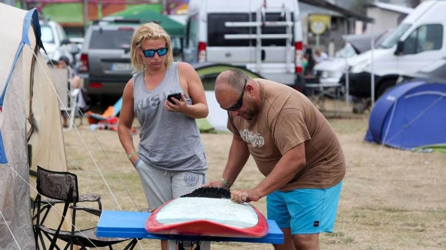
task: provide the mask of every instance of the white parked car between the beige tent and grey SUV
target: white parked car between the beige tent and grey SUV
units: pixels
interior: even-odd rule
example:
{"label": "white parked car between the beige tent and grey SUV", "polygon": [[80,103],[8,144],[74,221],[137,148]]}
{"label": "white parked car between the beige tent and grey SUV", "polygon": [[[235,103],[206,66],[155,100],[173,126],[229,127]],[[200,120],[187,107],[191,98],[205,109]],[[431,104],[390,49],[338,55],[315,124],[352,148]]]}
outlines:
{"label": "white parked car between the beige tent and grey SUV", "polygon": [[42,49],[42,55],[44,55],[45,60],[47,62],[49,60],[58,61],[61,56],[66,56],[71,64],[73,62],[72,48],[68,45],[70,41],[62,26],[48,19],[40,20],[39,23],[42,32],[42,43],[48,54],[45,54]]}

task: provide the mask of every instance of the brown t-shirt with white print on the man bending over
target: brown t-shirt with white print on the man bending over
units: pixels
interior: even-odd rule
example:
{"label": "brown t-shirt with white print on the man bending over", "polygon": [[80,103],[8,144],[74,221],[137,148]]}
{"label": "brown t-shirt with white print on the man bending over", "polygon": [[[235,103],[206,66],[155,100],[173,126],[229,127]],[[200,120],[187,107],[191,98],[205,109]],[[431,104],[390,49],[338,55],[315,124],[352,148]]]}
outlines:
{"label": "brown t-shirt with white print on the man bending over", "polygon": [[280,190],[338,184],[345,175],[345,159],[328,121],[301,92],[273,81],[254,80],[261,87],[258,114],[250,121],[233,117],[228,129],[247,143],[260,172],[268,176],[289,149],[304,142],[306,165]]}

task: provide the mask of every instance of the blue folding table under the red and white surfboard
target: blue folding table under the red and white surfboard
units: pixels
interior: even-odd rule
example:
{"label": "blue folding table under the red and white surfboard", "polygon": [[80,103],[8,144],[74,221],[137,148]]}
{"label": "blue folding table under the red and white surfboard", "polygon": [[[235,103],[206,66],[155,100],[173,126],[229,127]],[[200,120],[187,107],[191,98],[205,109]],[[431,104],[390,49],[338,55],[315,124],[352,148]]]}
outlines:
{"label": "blue folding table under the red and white surfboard", "polygon": [[235,241],[282,244],[283,233],[273,220],[268,220],[269,231],[262,238],[238,238],[238,237],[213,237],[195,235],[167,235],[154,234],[145,230],[145,221],[151,213],[126,212],[126,211],[102,211],[97,225],[98,237],[118,238],[148,238],[169,241],[169,249],[175,249],[177,241],[200,241],[200,249],[210,249],[211,241]]}

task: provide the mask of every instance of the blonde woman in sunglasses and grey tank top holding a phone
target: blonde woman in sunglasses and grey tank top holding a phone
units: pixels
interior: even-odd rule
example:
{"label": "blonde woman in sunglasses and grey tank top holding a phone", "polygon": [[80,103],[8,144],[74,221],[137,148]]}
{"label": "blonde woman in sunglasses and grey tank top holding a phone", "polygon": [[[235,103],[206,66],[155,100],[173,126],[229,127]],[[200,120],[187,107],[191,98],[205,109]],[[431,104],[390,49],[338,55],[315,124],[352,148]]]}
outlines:
{"label": "blonde woman in sunglasses and grey tank top holding a phone", "polygon": [[[195,119],[206,117],[208,107],[194,68],[172,62],[170,37],[160,25],[139,26],[130,54],[138,73],[124,88],[118,134],[152,211],[205,183],[207,163]],[[167,101],[175,92],[180,99]],[[141,124],[137,151],[130,132],[135,117]]]}

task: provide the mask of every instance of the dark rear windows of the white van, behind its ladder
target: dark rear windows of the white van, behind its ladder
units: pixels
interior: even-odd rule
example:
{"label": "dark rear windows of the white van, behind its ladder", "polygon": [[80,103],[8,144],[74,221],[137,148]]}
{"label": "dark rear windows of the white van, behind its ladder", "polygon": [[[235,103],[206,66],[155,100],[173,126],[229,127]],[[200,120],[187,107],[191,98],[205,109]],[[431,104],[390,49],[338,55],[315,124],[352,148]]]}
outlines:
{"label": "dark rear windows of the white van, behind its ladder", "polygon": [[[255,39],[225,39],[225,34],[255,34],[256,28],[225,27],[225,22],[253,22],[256,14],[251,13],[212,13],[207,16],[208,46],[255,46]],[[293,21],[291,13],[291,21]],[[285,21],[280,13],[267,13],[266,21]],[[291,29],[293,30],[293,29]],[[285,34],[285,27],[263,27],[262,34]],[[285,46],[285,39],[262,39],[262,46]]]}

